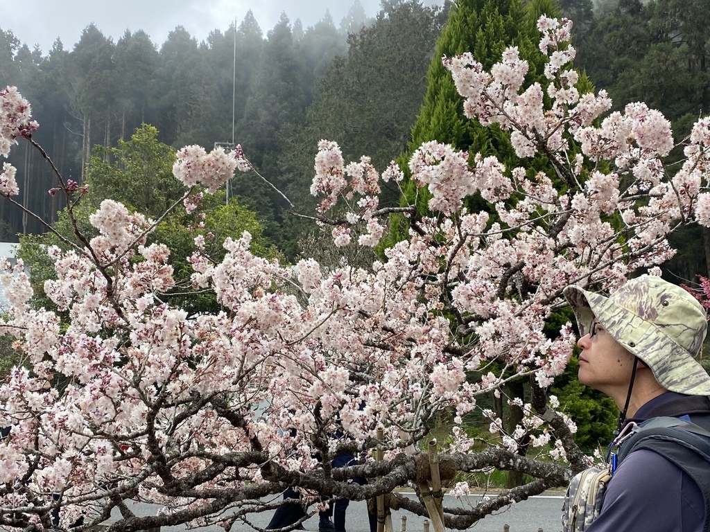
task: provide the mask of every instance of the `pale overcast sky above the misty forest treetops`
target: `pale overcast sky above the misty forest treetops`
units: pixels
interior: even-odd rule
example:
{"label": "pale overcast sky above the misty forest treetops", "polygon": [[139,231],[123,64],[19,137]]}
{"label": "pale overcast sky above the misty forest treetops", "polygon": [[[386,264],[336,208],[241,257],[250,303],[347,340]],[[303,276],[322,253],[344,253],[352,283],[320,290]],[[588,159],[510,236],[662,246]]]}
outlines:
{"label": "pale overcast sky above the misty forest treetops", "polygon": [[[65,50],[71,50],[82,30],[90,23],[107,37],[118,40],[126,29],[143,30],[153,43],[162,45],[175,26],[184,26],[198,41],[210,31],[225,31],[237,24],[251,9],[266,32],[275,26],[282,12],[293,23],[300,18],[304,28],[330,11],[336,26],[347,14],[354,0],[32,0],[4,1],[0,8],[0,28],[11,30],[30,48],[40,45],[43,54],[60,38]],[[424,4],[441,4],[441,0],[425,0]],[[368,16],[377,13],[380,0],[360,0]]]}

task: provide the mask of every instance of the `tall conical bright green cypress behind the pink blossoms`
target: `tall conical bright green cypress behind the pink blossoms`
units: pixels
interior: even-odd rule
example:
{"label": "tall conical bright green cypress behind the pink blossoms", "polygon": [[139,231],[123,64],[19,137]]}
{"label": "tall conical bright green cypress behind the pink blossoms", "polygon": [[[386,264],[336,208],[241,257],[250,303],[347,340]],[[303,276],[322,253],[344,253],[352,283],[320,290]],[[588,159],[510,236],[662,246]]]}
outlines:
{"label": "tall conical bright green cypress behind the pink blossoms", "polygon": [[[457,92],[451,74],[442,64],[444,56],[472,52],[489,70],[501,60],[506,48],[517,46],[521,59],[530,65],[525,84],[542,82],[545,79],[545,57],[537,48],[540,32],[536,26],[542,14],[559,16],[557,0],[530,0],[525,4],[522,0],[461,0],[454,4],[427,72],[427,92],[412,126],[409,149],[397,160],[405,174],[408,174],[408,161],[415,150],[430,140],[466,150],[471,157],[476,153],[484,157],[496,155],[508,168],[525,166],[530,172],[537,172],[547,165],[542,155],[525,162],[516,157],[510,144],[510,133],[501,131],[497,125],[481,126],[478,121],[466,118],[464,98]],[[588,89],[591,87],[580,87],[580,90]],[[403,189],[403,204],[416,202],[418,214],[427,213],[428,192],[417,189],[410,182],[405,183]],[[468,206],[472,211],[492,211],[479,196],[469,199]],[[389,236],[383,244],[391,245],[401,240],[407,233],[407,226],[408,221],[403,216],[393,216]]]}

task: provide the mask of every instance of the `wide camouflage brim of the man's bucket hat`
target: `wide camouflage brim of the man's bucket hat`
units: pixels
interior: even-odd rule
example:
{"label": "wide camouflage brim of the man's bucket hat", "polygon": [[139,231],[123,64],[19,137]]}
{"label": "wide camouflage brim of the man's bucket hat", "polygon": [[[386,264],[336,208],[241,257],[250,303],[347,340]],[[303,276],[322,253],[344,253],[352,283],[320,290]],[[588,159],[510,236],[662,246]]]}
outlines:
{"label": "wide camouflage brim of the man's bucket hat", "polygon": [[577,318],[580,336],[589,333],[596,318],[623,348],[650,368],[662,387],[679,394],[710,396],[710,376],[704,367],[653,323],[606,296],[577,286],[564,289],[564,297]]}

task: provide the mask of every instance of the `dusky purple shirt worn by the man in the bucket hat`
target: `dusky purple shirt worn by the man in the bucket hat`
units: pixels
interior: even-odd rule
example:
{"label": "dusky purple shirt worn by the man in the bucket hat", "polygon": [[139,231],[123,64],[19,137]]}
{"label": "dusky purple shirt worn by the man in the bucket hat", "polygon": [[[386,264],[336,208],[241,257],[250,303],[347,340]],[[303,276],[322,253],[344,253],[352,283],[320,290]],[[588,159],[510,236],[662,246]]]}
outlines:
{"label": "dusky purple shirt worn by the man in the bucket hat", "polygon": [[[670,397],[664,395],[645,404],[637,416],[645,418],[666,403]],[[702,532],[704,522],[705,501],[694,480],[658,453],[640,449],[621,462],[606,489],[599,517],[586,530]]]}

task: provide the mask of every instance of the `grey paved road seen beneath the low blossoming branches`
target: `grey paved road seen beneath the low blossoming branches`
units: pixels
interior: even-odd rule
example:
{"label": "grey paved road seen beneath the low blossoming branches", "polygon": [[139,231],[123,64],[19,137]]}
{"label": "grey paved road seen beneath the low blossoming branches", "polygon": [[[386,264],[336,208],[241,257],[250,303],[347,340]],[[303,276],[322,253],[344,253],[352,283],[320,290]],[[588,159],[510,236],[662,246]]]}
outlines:
{"label": "grey paved road seen beneath the low blossoming branches", "polygon": [[[476,504],[479,497],[471,496],[468,504]],[[463,501],[466,504],[466,501]],[[451,497],[444,499],[444,506],[455,506],[457,500]],[[154,514],[155,508],[147,504],[138,505],[131,509],[138,515]],[[510,532],[538,532],[542,528],[543,532],[560,532],[562,525],[560,524],[560,512],[562,509],[562,496],[559,494],[545,494],[537,497],[531,497],[527,501],[520,502],[510,506],[509,509],[503,509],[496,515],[488,516],[469,528],[472,532],[503,532],[503,526],[510,525]],[[420,516],[415,516],[409,512],[393,511],[392,522],[395,532],[400,531],[401,517],[407,516],[407,531],[422,532],[424,528],[424,519]],[[254,525],[263,528],[271,519],[271,514],[258,514],[253,516],[251,521]],[[305,528],[308,531],[318,530],[317,516],[305,521]],[[366,505],[363,501],[351,502],[348,507],[346,516],[347,532],[369,532],[368,518]],[[161,528],[161,532],[182,532],[187,530],[185,526],[165,526]],[[217,526],[206,526],[197,528],[200,532],[224,532],[223,528]],[[253,532],[248,526],[235,526],[233,532]]]}

